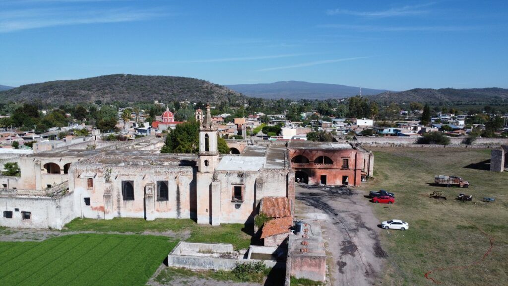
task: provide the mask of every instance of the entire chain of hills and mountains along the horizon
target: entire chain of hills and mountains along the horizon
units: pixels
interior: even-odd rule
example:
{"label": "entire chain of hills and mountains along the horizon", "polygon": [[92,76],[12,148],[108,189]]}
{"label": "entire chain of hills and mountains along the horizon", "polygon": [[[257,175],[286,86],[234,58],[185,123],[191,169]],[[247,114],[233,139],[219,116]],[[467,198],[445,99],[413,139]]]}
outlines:
{"label": "entire chain of hills and mountains along the horizon", "polygon": [[[2,91],[3,90],[3,91]],[[76,80],[56,80],[10,88],[0,85],[0,103],[41,102],[60,105],[101,100],[104,103],[152,102],[153,100],[190,102],[237,102],[245,96],[267,99],[340,99],[356,96],[358,87],[347,85],[310,83],[304,81],[278,81],[274,83],[219,85],[206,80],[178,76],[146,76],[112,74]],[[402,92],[362,88],[362,95],[371,100],[424,103],[508,103],[508,89],[412,89]]]}

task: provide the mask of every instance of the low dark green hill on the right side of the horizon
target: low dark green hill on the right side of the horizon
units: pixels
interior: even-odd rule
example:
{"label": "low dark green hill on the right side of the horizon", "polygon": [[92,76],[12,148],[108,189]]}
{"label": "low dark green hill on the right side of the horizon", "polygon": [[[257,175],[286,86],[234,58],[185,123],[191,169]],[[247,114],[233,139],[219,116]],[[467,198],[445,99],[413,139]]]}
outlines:
{"label": "low dark green hill on the right side of the horizon", "polygon": [[412,89],[403,92],[385,92],[370,96],[378,102],[424,102],[454,104],[470,103],[501,103],[508,102],[508,89]]}

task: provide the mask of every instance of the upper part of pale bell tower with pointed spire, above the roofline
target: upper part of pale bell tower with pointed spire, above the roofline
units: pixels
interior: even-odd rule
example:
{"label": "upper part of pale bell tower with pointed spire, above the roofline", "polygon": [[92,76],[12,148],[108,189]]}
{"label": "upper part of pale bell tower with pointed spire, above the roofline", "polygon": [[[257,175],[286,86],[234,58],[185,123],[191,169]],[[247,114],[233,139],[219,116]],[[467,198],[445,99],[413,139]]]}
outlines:
{"label": "upper part of pale bell tower with pointed spire, above the roofline", "polygon": [[217,127],[212,124],[210,104],[206,105],[206,116],[199,130],[199,172],[213,173],[219,161],[217,149]]}

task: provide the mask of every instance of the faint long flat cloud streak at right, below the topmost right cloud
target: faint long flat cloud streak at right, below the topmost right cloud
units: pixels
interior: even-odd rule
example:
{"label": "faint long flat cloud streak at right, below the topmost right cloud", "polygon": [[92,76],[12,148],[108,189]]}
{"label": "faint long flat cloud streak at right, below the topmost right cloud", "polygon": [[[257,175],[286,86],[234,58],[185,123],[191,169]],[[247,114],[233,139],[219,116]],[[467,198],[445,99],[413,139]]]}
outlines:
{"label": "faint long flat cloud streak at right, below the topmost right cloud", "polygon": [[341,28],[360,32],[460,32],[480,30],[481,26],[374,26],[350,24],[322,24],[321,28]]}

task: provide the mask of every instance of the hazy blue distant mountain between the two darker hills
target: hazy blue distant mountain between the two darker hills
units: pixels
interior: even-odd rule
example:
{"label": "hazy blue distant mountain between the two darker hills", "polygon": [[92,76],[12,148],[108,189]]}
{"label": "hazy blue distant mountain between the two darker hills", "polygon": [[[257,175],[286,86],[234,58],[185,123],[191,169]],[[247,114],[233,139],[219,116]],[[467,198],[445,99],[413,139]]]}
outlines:
{"label": "hazy blue distant mountain between the two darker hills", "polygon": [[[305,81],[278,81],[273,83],[232,84],[226,87],[246,96],[269,99],[328,99],[345,98],[360,93],[360,88],[330,83],[312,83]],[[386,90],[362,88],[362,95],[375,95]]]}

